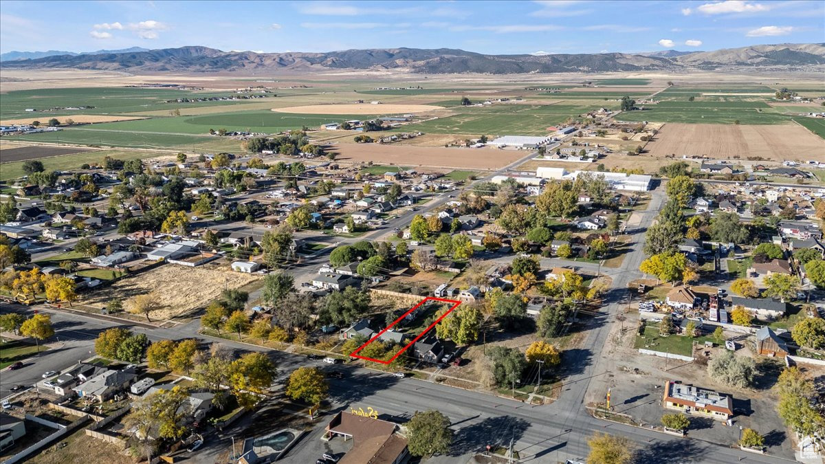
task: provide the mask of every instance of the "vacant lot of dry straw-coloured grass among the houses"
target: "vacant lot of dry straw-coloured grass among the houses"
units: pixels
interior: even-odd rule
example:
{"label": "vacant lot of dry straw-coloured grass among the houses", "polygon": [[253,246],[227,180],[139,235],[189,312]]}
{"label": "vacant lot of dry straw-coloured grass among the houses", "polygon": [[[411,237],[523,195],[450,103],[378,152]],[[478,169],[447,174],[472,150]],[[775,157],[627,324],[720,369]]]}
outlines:
{"label": "vacant lot of dry straw-coloured grass among the houses", "polygon": [[[168,320],[208,305],[220,295],[224,287],[238,288],[259,278],[254,274],[233,272],[214,264],[198,268],[164,264],[160,268],[94,291],[81,304],[102,307],[112,298],[121,298],[125,310],[130,310],[134,296],[152,293],[156,296],[158,310],[153,310],[149,317],[153,320]],[[205,282],[209,284],[204,285]]]}

